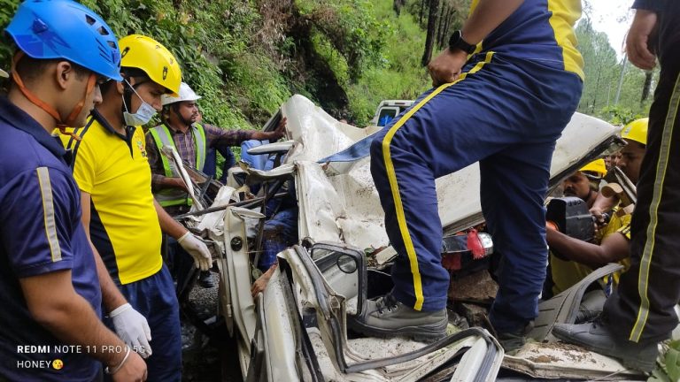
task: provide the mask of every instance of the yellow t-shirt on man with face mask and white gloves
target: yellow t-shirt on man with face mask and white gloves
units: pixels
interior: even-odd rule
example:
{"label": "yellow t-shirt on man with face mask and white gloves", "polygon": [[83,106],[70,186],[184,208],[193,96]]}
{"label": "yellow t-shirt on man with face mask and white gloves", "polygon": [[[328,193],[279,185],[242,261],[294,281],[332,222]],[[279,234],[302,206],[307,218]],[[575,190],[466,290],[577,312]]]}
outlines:
{"label": "yellow t-shirt on man with face mask and white gloves", "polygon": [[160,271],[161,232],[151,194],[142,128],[116,133],[93,111],[84,127],[62,135],[73,150],[73,178],[91,196],[89,232],[114,281],[121,285]]}

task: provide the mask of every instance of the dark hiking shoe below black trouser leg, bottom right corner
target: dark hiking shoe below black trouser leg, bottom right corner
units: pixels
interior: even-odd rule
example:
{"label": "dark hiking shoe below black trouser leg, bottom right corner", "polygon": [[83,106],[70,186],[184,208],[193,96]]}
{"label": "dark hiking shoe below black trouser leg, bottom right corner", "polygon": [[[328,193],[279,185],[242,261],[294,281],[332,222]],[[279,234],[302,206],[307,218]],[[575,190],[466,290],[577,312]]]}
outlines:
{"label": "dark hiking shoe below black trouser leg, bottom right corner", "polygon": [[624,366],[638,371],[653,371],[659,355],[656,342],[639,344],[627,340],[623,335],[611,332],[601,318],[588,324],[557,324],[553,327],[553,335],[596,353],[618,358]]}

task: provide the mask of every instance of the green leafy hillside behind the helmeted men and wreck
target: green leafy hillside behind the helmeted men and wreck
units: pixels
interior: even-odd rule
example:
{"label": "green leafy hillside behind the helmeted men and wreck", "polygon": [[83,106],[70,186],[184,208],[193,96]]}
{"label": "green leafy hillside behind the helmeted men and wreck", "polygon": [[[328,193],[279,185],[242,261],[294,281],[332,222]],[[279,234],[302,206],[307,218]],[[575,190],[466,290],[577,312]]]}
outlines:
{"label": "green leafy hillside behind the helmeted men and wreck", "polygon": [[[205,121],[217,126],[261,126],[293,93],[362,126],[381,100],[429,88],[419,63],[424,31],[408,7],[398,17],[392,0],[81,2],[119,37],[146,34],[171,50],[183,80],[203,95]],[[4,28],[19,0],[0,4]],[[0,67],[9,69],[11,55],[0,42]]]}

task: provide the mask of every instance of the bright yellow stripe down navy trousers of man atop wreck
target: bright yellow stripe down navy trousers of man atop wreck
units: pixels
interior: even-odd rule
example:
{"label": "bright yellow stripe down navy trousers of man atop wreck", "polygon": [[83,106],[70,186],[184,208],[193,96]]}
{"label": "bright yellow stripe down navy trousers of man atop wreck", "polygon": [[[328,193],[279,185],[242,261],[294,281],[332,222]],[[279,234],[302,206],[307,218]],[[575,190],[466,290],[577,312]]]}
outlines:
{"label": "bright yellow stripe down navy trousers of man atop wreck", "polygon": [[399,127],[404,126],[406,121],[413,117],[416,111],[419,111],[423,105],[429,102],[435,95],[441,93],[445,88],[452,86],[455,83],[464,80],[468,74],[476,73],[482,69],[483,65],[491,62],[491,57],[493,57],[493,52],[488,52],[483,61],[480,61],[472,68],[468,73],[460,74],[458,80],[451,83],[446,83],[441,85],[439,88],[435,89],[427,97],[425,97],[420,103],[416,104],[413,109],[408,111],[404,117],[400,118],[396,124],[394,124],[390,131],[385,134],[383,138],[383,160],[385,163],[385,170],[387,171],[387,177],[390,180],[390,189],[392,191],[392,199],[394,199],[394,208],[397,212],[397,221],[399,225],[399,233],[401,233],[401,239],[404,241],[404,246],[406,247],[406,255],[408,255],[408,262],[411,265],[411,273],[413,273],[413,291],[415,293],[415,305],[413,309],[421,310],[424,297],[422,295],[422,283],[421,283],[421,272],[418,269],[418,257],[415,254],[415,249],[413,248],[413,241],[411,241],[411,234],[408,232],[408,226],[406,225],[406,216],[404,214],[404,206],[401,203],[401,196],[399,195],[399,186],[397,183],[397,173],[394,171],[394,165],[392,164],[392,158],[390,157],[390,142],[397,134]]}

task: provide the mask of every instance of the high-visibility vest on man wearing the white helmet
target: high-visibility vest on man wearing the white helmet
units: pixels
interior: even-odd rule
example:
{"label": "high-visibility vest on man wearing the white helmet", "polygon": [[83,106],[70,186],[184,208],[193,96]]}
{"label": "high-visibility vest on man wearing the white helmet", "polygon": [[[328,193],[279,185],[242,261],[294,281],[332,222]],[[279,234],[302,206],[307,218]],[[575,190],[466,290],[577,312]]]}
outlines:
{"label": "high-visibility vest on man wearing the white helmet", "polygon": [[[203,166],[205,164],[205,130],[203,125],[195,123],[191,125],[191,133],[194,136],[194,146],[196,147],[196,168],[198,171],[203,171]],[[149,134],[153,137],[153,141],[156,142],[156,147],[158,148],[158,153],[160,155],[160,160],[163,163],[163,169],[166,172],[166,177],[169,178],[179,178],[180,172],[174,166],[174,162],[167,159],[160,149],[163,146],[172,146],[176,150],[177,147],[174,145],[173,135],[170,134],[170,130],[165,125],[158,125],[149,129]],[[163,206],[174,206],[174,205],[191,205],[191,198],[189,194],[177,188],[166,188],[158,191],[154,194],[158,203]]]}

